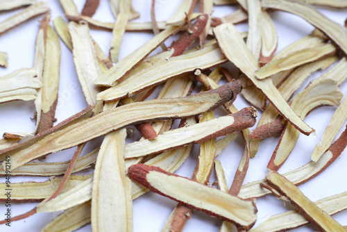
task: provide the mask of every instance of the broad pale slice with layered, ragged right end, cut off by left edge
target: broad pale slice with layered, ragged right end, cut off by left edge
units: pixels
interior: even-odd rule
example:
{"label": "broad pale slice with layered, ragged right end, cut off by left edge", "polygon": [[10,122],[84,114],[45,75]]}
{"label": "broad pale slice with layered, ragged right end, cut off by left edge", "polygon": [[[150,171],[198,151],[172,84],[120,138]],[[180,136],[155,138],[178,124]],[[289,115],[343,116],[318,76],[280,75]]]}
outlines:
{"label": "broad pale slice with layered, ragged right end, cut off by left edge", "polygon": [[6,101],[31,101],[36,98],[42,83],[36,78],[36,70],[21,68],[0,77],[0,103]]}

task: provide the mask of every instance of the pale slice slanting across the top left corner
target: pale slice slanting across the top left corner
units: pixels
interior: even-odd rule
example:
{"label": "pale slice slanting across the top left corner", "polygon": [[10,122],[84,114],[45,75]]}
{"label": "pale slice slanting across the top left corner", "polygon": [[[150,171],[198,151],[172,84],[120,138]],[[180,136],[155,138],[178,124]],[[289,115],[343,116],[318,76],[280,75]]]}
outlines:
{"label": "pale slice slanting across the top left corner", "polygon": [[3,22],[0,22],[0,35],[14,28],[15,26],[18,26],[19,24],[26,22],[28,19],[46,13],[49,10],[50,8],[45,1],[40,1],[35,5],[28,6],[17,15],[13,15]]}

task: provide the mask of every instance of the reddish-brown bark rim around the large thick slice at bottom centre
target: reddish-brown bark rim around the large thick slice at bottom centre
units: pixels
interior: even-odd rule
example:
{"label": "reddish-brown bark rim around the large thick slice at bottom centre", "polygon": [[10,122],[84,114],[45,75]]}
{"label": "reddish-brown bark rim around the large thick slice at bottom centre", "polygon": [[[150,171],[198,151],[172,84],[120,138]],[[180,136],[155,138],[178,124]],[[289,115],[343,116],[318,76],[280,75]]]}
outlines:
{"label": "reddish-brown bark rim around the large thick slice at bottom centre", "polygon": [[[172,174],[170,172],[167,172],[167,171],[164,171],[163,169],[161,169],[160,167],[155,167],[155,166],[149,166],[149,165],[144,165],[142,163],[139,163],[139,164],[136,164],[136,165],[132,165],[128,168],[128,175],[130,177],[130,179],[133,179],[133,181],[136,181],[137,183],[140,183],[141,185],[143,185],[144,187],[148,188],[149,190],[151,190],[152,192],[155,192],[155,193],[158,193],[164,197],[168,197],[169,199],[173,199],[174,201],[178,201],[180,204],[183,204],[183,205],[186,205],[186,206],[189,206],[189,208],[192,208],[193,210],[198,210],[198,211],[201,211],[203,213],[206,213],[207,215],[210,215],[212,217],[219,217],[223,220],[226,220],[228,222],[230,222],[230,219],[226,218],[226,217],[223,217],[221,215],[217,215],[216,213],[214,212],[211,212],[209,210],[204,210],[202,208],[198,208],[196,206],[192,206],[192,205],[187,205],[185,204],[184,202],[182,201],[179,201],[178,199],[174,199],[173,197],[170,197],[168,196],[167,194],[164,194],[162,192],[160,192],[159,190],[157,190],[156,188],[153,188],[153,186],[151,186],[151,184],[146,180],[146,175],[149,174],[149,172],[160,172],[160,173],[163,173],[163,174],[166,174],[167,176],[176,176],[176,177],[180,177],[180,178],[183,178],[183,179],[187,179],[189,181],[192,181],[191,179],[188,179],[186,177],[183,177],[183,176],[178,176],[176,174]],[[196,182],[198,183],[198,182]],[[199,183],[201,184],[201,183]],[[201,184],[203,185],[203,184]],[[207,187],[207,188],[211,188],[211,187]],[[254,204],[254,201],[253,201],[253,204]],[[255,206],[255,204],[254,204]],[[235,223],[235,222],[234,222]],[[236,224],[236,223],[235,223]],[[253,226],[253,224],[249,225],[249,226],[242,226],[242,225],[239,225],[237,224],[237,226],[239,226],[240,228],[242,229],[251,229],[251,227]]]}

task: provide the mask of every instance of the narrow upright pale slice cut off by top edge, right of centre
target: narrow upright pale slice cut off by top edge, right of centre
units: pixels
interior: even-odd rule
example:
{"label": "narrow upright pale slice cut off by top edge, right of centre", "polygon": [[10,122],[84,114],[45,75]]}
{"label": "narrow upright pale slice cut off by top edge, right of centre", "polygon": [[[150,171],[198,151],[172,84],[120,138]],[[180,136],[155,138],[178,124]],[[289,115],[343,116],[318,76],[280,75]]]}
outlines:
{"label": "narrow upright pale slice cut off by top edge, right of centre", "polygon": [[260,0],[247,0],[248,36],[247,47],[255,60],[259,60],[262,47],[262,8]]}

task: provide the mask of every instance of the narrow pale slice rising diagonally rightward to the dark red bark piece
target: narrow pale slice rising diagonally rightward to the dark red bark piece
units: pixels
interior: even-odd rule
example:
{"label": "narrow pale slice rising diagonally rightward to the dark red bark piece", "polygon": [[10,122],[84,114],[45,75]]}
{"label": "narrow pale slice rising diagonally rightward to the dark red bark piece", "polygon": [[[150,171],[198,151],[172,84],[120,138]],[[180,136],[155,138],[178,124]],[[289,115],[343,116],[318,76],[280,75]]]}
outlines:
{"label": "narrow pale slice rising diagonally rightward to the dark red bark piece", "polygon": [[94,83],[96,85],[113,86],[121,82],[126,75],[138,65],[146,56],[149,55],[154,49],[156,49],[162,42],[167,40],[171,35],[174,35],[180,30],[177,26],[170,26],[158,35],[155,35],[151,40],[147,41],[137,50],[130,53],[126,58],[119,60],[117,65],[113,66],[105,74],[96,78]]}

